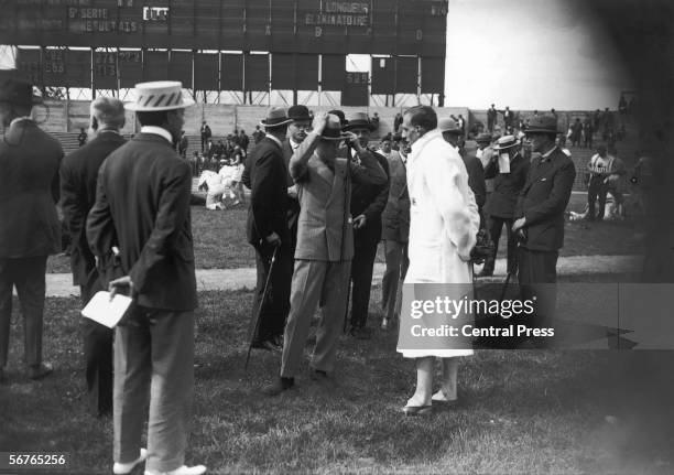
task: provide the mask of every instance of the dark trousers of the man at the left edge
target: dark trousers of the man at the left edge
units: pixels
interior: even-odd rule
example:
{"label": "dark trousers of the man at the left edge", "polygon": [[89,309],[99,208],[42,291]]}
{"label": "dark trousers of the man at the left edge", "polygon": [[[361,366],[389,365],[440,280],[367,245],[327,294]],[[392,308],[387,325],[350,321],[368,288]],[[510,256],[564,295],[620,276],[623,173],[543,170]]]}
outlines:
{"label": "dark trousers of the man at the left edge", "polygon": [[46,256],[0,259],[0,368],[7,366],[14,285],[23,313],[25,364],[42,363],[46,259]]}

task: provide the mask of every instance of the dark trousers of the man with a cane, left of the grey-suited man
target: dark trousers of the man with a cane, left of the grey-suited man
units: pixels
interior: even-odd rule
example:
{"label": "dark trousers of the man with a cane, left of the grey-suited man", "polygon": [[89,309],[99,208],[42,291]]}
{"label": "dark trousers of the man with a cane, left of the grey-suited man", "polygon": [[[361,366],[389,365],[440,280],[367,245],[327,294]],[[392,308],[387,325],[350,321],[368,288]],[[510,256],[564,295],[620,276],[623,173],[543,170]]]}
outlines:
{"label": "dark trousers of the man with a cane, left of the grey-suited man", "polygon": [[[256,294],[252,306],[251,324],[254,325],[256,315],[262,302],[264,284],[269,277],[271,258],[274,252],[274,247],[262,245],[256,247],[256,268],[258,271],[258,281],[256,284]],[[262,302],[260,311],[260,321],[258,331],[254,327],[250,328],[250,334],[254,339],[267,341],[273,339],[283,335],[285,319],[290,312],[290,291],[293,279],[293,249],[289,245],[282,245],[276,252],[276,259],[272,269],[271,278],[269,279],[269,289],[267,298]],[[253,334],[254,332],[254,334]]]}

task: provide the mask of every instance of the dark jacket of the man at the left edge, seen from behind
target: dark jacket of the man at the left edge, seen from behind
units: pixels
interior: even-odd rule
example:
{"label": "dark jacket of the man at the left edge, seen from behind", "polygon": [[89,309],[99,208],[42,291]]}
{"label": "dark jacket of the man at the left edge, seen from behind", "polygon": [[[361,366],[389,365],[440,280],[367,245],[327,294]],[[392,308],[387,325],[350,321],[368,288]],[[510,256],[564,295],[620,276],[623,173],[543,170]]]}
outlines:
{"label": "dark jacket of the man at the left edge, seen from behind", "polygon": [[32,120],[19,120],[0,140],[0,259],[61,251],[61,143]]}

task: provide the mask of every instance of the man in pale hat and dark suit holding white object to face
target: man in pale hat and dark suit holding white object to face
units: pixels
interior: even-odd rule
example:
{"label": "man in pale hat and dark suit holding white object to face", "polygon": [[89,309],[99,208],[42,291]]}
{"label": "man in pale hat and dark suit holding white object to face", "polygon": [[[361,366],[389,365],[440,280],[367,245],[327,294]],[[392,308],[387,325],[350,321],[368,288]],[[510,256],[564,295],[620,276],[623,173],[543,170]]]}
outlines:
{"label": "man in pale hat and dark suit holding white object to face", "polygon": [[513,136],[501,137],[493,147],[485,177],[493,180],[493,193],[486,208],[489,216],[489,236],[493,241],[493,253],[485,261],[485,267],[478,277],[493,274],[493,266],[501,238],[501,229],[506,225],[508,236],[507,272],[514,272],[518,261],[518,239],[512,233],[512,222],[515,204],[529,173],[529,160],[520,154],[520,141]]}

